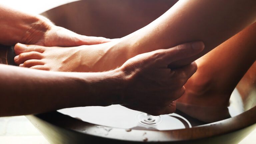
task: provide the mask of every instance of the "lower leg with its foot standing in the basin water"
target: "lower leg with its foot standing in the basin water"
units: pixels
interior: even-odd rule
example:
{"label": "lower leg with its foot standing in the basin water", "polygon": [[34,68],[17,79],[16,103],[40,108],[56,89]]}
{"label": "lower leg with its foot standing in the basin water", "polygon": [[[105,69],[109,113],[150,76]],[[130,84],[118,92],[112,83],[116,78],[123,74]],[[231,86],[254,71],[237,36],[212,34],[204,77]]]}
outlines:
{"label": "lower leg with its foot standing in the basin water", "polygon": [[237,83],[256,60],[256,23],[197,60],[177,108],[205,122],[225,119]]}

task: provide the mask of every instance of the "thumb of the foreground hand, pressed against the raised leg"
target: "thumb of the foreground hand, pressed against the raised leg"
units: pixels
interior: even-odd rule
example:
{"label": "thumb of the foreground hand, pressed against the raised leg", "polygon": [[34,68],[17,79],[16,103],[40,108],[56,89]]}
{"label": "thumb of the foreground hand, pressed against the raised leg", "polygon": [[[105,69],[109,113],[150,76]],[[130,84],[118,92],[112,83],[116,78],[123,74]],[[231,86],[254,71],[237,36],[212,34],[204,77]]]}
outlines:
{"label": "thumb of the foreground hand, pressed against the raised leg", "polygon": [[194,56],[200,53],[203,49],[204,43],[201,41],[185,43],[162,50],[162,53],[164,53],[162,59],[165,63],[170,64],[171,62]]}

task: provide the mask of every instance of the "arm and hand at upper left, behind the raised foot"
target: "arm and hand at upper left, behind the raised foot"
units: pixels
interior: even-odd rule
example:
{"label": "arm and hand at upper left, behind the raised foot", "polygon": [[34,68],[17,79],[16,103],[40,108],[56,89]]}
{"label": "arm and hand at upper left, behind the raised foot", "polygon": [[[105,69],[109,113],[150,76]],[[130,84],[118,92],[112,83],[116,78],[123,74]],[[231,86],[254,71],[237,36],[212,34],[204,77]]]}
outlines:
{"label": "arm and hand at upper left, behind the raised foot", "polygon": [[0,5],[0,44],[16,43],[42,46],[80,46],[110,41],[102,37],[88,37],[55,26],[43,16],[31,15]]}

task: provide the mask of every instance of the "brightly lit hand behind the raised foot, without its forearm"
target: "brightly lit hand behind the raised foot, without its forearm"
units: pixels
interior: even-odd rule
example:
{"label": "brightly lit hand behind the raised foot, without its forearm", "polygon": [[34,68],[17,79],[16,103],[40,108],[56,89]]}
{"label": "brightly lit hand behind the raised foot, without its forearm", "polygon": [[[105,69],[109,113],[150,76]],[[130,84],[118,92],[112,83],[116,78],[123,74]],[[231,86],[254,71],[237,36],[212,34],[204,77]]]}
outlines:
{"label": "brightly lit hand behind the raised foot, without its forearm", "polygon": [[110,39],[104,37],[79,35],[63,27],[55,26],[52,22],[44,17],[40,17],[39,21],[42,21],[40,22],[41,26],[35,26],[33,28],[34,33],[32,33],[32,35],[25,40],[25,43],[47,47],[71,47],[101,44],[110,41]]}

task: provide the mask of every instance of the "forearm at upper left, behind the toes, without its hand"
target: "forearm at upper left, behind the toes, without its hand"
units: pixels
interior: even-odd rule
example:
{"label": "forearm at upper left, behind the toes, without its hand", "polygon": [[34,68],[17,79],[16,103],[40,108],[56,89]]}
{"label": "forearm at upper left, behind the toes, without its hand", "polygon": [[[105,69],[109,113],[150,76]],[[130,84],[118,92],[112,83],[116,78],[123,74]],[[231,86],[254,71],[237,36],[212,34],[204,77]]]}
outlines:
{"label": "forearm at upper left, behind the toes, without its hand", "polygon": [[23,13],[0,5],[0,44],[31,43],[36,41],[35,35],[43,36],[51,25],[52,23],[42,16]]}

